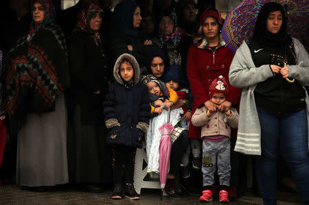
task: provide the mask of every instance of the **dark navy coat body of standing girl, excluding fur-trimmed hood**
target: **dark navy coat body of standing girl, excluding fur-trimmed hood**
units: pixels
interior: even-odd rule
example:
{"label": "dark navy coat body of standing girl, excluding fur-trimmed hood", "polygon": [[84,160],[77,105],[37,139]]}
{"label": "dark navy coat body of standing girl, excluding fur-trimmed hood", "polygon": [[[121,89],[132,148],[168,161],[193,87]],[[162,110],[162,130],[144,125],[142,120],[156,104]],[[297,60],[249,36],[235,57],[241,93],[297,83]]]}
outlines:
{"label": "dark navy coat body of standing girl, excluding fur-trimmed hood", "polygon": [[[142,147],[144,132],[136,128],[137,123],[149,123],[150,105],[148,89],[138,82],[126,88],[123,84],[113,82],[104,101],[105,121],[117,119],[120,126],[112,128],[108,134],[108,143],[128,147]],[[113,136],[115,139],[113,139]]]}

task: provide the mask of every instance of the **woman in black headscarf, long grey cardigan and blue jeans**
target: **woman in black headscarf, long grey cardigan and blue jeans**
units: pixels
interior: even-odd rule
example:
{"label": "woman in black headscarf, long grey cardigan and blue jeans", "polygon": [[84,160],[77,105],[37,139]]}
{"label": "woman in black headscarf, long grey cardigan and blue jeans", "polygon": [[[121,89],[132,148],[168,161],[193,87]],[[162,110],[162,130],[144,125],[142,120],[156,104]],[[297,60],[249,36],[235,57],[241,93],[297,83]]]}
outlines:
{"label": "woman in black headscarf, long grey cardigan and blue jeans", "polygon": [[256,177],[264,204],[277,204],[277,158],[286,161],[297,189],[309,204],[308,93],[309,56],[299,40],[286,34],[279,3],[262,6],[253,38],[236,51],[229,71],[242,88],[235,150],[258,155]]}

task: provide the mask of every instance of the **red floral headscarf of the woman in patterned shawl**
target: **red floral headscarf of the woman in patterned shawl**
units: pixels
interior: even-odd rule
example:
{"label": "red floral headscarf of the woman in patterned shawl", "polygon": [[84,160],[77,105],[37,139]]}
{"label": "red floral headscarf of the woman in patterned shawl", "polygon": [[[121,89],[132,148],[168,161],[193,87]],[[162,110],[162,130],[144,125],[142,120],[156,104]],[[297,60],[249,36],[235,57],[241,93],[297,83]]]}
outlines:
{"label": "red floral headscarf of the woman in patterned shawl", "polygon": [[33,5],[34,3],[41,3],[44,7],[45,14],[44,14],[44,20],[42,23],[35,23],[32,19],[31,25],[30,25],[30,32],[27,36],[27,41],[31,41],[36,32],[38,32],[38,29],[41,29],[45,27],[46,25],[53,23],[56,19],[56,12],[54,4],[49,0],[34,0],[32,1],[32,9],[31,13],[33,14]]}

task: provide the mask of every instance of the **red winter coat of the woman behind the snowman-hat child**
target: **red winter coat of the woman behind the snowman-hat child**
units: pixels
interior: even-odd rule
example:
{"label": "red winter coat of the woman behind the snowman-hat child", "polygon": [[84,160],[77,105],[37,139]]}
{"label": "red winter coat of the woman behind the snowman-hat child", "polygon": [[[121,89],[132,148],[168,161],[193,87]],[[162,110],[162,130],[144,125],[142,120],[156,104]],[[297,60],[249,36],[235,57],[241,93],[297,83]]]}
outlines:
{"label": "red winter coat of the woman behind the snowman-hat child", "polygon": [[[222,41],[221,44],[224,44]],[[234,53],[225,45],[219,45],[213,52],[209,46],[205,49],[190,45],[187,56],[187,77],[193,93],[192,114],[196,108],[209,100],[209,84],[219,75],[225,77],[229,84],[229,66]],[[241,89],[229,84],[227,100],[233,103],[233,107],[239,108]],[[201,128],[195,127],[190,122],[189,138],[201,138]]]}

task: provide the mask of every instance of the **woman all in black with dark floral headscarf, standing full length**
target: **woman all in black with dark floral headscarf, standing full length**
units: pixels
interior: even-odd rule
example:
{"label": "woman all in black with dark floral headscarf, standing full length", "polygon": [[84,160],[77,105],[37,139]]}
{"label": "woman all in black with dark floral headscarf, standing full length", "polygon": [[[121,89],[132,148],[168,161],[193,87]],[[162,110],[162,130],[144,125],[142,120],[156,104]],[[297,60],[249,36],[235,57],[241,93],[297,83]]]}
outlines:
{"label": "woman all in black with dark floral headscarf, standing full length", "polygon": [[102,103],[108,89],[108,58],[99,29],[102,9],[95,4],[80,11],[70,38],[71,64],[69,178],[80,188],[100,192],[111,182],[111,161],[105,145]]}

